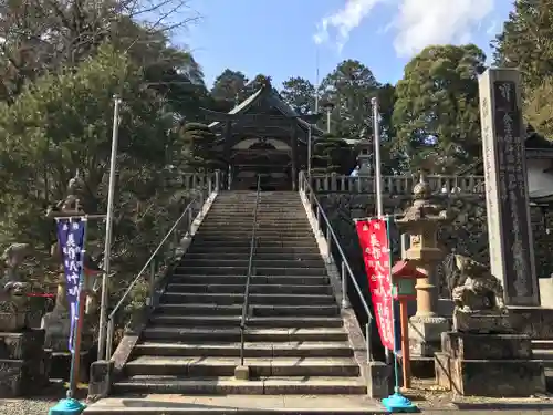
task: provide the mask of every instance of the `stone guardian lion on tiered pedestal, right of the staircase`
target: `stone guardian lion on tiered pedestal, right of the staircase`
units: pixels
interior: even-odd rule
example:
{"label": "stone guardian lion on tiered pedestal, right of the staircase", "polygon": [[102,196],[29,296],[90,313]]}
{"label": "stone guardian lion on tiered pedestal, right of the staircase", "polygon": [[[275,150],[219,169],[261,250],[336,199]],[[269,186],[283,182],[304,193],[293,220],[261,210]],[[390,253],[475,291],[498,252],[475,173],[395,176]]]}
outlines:
{"label": "stone guardian lion on tiered pedestal, right of the staircase", "polygon": [[530,336],[514,333],[500,280],[467,257],[456,256],[456,266],[453,331],[435,354],[437,383],[457,395],[544,393],[543,363],[532,360]]}

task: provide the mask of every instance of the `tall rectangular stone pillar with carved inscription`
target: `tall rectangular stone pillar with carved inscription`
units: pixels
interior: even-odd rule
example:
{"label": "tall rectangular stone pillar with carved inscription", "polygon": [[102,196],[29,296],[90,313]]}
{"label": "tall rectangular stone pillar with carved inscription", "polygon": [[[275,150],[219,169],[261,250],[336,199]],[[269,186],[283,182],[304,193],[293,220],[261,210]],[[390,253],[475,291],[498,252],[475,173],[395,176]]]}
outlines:
{"label": "tall rectangular stone pillar with carved inscription", "polygon": [[490,264],[508,305],[540,305],[520,90],[517,70],[479,79]]}

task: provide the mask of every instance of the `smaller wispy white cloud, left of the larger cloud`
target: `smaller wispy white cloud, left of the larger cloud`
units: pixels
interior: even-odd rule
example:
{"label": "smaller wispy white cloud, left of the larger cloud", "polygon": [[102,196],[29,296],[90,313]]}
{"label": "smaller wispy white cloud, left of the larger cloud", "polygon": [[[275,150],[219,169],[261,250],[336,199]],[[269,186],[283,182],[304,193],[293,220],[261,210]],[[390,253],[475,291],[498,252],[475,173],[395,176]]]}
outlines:
{"label": "smaller wispy white cloud, left of the larger cloud", "polygon": [[328,31],[336,31],[335,43],[338,51],[342,50],[349,39],[349,32],[363,22],[375,4],[382,1],[346,0],[345,6],[341,10],[321,20],[313,40],[317,44],[327,42],[330,40]]}

